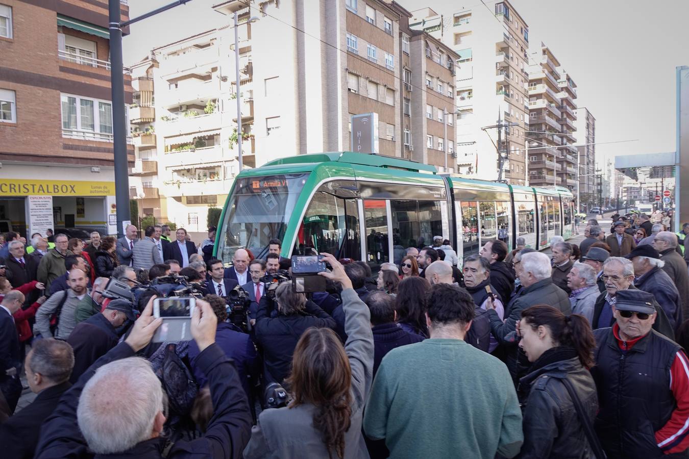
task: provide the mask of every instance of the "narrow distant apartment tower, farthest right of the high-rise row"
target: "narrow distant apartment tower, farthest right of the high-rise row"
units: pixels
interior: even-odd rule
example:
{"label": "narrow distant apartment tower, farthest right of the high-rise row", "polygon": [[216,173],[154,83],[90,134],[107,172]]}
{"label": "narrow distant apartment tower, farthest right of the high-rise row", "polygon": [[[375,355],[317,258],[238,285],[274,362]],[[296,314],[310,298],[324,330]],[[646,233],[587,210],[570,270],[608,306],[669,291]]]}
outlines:
{"label": "narrow distant apartment tower, farthest right of the high-rise row", "polygon": [[581,208],[590,209],[597,202],[595,197],[596,118],[588,109],[575,110],[577,115],[577,143],[579,147],[579,195]]}

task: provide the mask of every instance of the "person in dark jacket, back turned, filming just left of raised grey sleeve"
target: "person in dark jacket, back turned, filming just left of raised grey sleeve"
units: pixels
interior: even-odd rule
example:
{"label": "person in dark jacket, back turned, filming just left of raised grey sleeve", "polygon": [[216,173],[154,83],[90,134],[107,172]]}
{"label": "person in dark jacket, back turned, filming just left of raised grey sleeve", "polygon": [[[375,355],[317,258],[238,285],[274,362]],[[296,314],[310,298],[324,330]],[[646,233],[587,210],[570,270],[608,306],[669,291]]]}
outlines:
{"label": "person in dark jacket, back turned, filming just left of raised grey sleeve", "polygon": [[[280,383],[289,375],[294,348],[302,333],[309,327],[335,328],[335,319],[307,301],[303,293],[294,292],[289,281],[271,284],[275,299],[263,295],[256,312],[256,340],[263,346],[264,383]],[[277,316],[271,318],[269,307],[275,305]],[[372,355],[372,354],[371,354]]]}

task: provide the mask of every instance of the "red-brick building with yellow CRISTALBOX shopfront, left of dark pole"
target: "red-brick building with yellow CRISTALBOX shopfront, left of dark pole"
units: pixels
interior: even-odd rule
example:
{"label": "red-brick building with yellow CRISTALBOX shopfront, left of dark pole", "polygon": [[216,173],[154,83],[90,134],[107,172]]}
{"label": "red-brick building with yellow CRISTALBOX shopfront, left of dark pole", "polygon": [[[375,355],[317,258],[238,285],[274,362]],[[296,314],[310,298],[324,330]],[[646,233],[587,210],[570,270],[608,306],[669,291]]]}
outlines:
{"label": "red-brick building with yellow CRISTALBOX shopfront, left of dark pole", "polygon": [[3,230],[117,232],[109,36],[105,0],[0,0]]}

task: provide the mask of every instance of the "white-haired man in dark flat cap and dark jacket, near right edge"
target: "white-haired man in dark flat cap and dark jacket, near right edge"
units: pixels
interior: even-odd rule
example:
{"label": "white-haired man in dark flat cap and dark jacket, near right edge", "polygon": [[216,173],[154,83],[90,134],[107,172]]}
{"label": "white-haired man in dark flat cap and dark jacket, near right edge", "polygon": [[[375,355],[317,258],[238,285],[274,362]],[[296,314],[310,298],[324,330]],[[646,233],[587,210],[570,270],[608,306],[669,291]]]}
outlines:
{"label": "white-haired man in dark flat cap and dark jacket, near right edge", "polygon": [[646,244],[637,246],[625,258],[632,260],[634,265],[634,286],[653,295],[667,314],[672,330],[677,332],[682,323],[681,299],[672,279],[662,269],[665,261],[660,259],[658,251]]}

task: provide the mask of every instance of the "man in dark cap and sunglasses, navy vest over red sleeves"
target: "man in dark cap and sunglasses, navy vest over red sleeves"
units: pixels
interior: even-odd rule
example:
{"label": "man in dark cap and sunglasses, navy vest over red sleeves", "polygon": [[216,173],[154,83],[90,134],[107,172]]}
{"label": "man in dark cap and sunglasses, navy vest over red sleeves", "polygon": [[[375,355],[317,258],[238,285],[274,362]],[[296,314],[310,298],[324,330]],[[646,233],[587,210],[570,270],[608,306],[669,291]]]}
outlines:
{"label": "man in dark cap and sunglasses, navy vest over red sleeves", "polygon": [[677,343],[652,330],[658,314],[653,295],[619,290],[616,300],[614,325],[593,332],[596,365],[590,371],[599,394],[601,445],[608,458],[686,457],[689,360]]}

